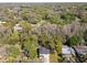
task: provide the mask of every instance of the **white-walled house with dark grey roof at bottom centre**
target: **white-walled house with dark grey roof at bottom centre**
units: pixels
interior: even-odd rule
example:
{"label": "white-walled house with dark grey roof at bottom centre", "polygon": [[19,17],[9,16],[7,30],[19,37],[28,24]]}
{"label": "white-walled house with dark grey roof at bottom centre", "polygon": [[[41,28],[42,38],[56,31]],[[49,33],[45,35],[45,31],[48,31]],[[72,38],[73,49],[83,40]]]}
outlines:
{"label": "white-walled house with dark grey roof at bottom centre", "polygon": [[50,63],[50,50],[40,46],[39,52],[40,52],[40,61],[42,63]]}

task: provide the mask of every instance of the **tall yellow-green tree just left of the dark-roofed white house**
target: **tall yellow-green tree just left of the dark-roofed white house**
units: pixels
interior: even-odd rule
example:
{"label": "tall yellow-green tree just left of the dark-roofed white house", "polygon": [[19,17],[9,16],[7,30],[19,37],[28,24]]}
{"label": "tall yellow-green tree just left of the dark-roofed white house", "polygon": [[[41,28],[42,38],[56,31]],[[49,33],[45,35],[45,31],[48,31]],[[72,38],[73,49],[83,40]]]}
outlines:
{"label": "tall yellow-green tree just left of the dark-roofed white house", "polygon": [[37,44],[37,36],[36,35],[30,35],[26,37],[26,40],[24,41],[24,50],[28,51],[28,55],[30,56],[30,58],[34,58],[37,56],[36,54],[36,48],[39,46]]}

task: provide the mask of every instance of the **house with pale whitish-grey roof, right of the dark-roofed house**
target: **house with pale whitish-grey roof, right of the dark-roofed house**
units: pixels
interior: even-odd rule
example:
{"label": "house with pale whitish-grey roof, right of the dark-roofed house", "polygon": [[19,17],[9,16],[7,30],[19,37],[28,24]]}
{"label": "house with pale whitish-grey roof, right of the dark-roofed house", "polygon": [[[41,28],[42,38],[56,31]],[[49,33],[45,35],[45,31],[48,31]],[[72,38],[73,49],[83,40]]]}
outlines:
{"label": "house with pale whitish-grey roof, right of the dark-roofed house", "polygon": [[63,57],[69,59],[72,57],[72,54],[75,54],[74,50],[67,45],[64,45],[62,48]]}

